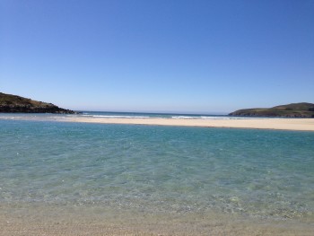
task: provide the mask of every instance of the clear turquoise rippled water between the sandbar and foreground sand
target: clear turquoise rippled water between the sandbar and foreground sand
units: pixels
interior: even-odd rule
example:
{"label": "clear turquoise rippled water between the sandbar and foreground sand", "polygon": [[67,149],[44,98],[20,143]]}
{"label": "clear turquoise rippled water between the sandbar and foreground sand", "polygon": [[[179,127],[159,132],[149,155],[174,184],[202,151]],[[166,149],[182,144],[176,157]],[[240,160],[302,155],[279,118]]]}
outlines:
{"label": "clear turquoise rippled water between the sandbar and foreground sand", "polygon": [[312,219],[314,133],[0,119],[0,204]]}

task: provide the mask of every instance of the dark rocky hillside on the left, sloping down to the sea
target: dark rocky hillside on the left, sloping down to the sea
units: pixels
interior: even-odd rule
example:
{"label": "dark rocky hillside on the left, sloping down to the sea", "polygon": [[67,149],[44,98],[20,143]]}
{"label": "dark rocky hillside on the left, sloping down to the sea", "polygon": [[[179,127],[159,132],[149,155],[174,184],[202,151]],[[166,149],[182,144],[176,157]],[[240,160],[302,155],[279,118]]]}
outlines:
{"label": "dark rocky hillside on the left, sloping down to the sea", "polygon": [[20,96],[0,92],[0,112],[22,113],[59,113],[74,114],[70,109],[61,109],[54,104],[34,101]]}

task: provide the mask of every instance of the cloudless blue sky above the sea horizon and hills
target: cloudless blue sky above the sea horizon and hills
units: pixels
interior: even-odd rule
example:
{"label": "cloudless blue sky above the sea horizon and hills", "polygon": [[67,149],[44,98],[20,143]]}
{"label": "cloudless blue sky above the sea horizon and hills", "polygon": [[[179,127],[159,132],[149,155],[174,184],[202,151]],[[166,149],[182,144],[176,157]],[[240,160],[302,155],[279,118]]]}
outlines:
{"label": "cloudless blue sky above the sea horizon and hills", "polygon": [[314,0],[1,0],[0,92],[112,111],[314,102]]}

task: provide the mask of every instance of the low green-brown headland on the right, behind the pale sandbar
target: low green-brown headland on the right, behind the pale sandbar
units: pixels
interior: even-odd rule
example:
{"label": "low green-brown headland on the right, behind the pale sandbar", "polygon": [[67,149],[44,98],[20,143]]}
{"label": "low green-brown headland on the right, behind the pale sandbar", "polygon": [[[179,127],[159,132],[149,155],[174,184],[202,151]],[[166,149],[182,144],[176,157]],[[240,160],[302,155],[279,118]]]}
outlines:
{"label": "low green-brown headland on the right, behind the pale sandbar", "polygon": [[270,109],[239,109],[231,112],[229,115],[250,117],[314,118],[314,104],[301,102],[276,106]]}

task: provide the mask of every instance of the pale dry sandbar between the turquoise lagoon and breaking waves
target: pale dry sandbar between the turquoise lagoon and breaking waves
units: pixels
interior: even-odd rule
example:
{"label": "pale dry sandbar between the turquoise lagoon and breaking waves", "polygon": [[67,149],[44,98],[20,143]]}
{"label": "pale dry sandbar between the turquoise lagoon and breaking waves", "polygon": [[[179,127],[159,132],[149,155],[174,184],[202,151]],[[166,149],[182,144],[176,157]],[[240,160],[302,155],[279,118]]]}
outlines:
{"label": "pale dry sandbar between the turquoise lagoon and breaking waves", "polygon": [[175,119],[175,118],[85,118],[70,117],[65,121],[183,127],[235,127],[314,131],[314,118],[248,118],[248,119]]}

